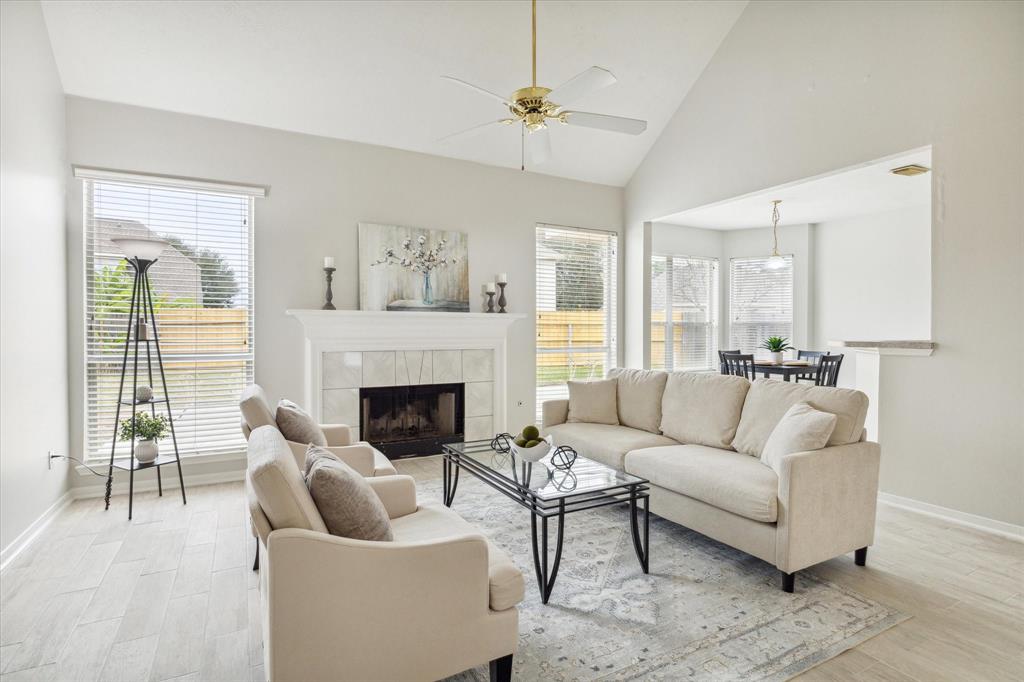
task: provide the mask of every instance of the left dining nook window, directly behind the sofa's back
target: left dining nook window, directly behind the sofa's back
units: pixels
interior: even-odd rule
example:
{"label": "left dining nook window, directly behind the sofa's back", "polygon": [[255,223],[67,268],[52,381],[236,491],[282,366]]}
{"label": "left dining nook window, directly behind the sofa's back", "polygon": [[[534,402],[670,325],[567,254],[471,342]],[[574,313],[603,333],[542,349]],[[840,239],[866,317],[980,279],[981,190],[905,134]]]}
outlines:
{"label": "left dining nook window, directly behind the sofa's back", "polygon": [[650,259],[650,367],[718,368],[718,259]]}

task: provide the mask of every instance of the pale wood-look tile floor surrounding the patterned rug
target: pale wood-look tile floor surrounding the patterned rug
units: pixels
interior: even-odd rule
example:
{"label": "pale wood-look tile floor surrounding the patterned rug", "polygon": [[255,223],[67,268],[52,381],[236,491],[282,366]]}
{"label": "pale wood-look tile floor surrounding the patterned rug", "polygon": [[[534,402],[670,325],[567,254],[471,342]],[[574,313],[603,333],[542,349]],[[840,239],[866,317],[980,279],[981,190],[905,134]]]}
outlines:
{"label": "pale wood-look tile floor surrounding the patterned rug", "polygon": [[[437,458],[399,469],[425,480]],[[0,682],[260,681],[242,483],[74,502],[0,573]],[[652,551],[657,551],[652,548]],[[913,617],[799,679],[1024,679],[1024,544],[882,507],[865,568],[815,570]]]}

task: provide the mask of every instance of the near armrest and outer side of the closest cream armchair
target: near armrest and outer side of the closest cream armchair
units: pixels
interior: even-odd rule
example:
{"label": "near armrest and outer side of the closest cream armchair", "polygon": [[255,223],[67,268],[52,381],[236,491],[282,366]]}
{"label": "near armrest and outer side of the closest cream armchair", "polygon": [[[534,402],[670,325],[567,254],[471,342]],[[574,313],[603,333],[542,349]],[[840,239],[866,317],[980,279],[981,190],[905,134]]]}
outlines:
{"label": "near armrest and outer side of the closest cream armchair", "polygon": [[[487,543],[365,542],[295,528],[267,547],[268,680],[438,679],[512,652],[515,609],[488,608]],[[475,655],[476,663],[463,662]],[[489,657],[485,657],[489,656]],[[454,659],[454,660],[453,660]]]}

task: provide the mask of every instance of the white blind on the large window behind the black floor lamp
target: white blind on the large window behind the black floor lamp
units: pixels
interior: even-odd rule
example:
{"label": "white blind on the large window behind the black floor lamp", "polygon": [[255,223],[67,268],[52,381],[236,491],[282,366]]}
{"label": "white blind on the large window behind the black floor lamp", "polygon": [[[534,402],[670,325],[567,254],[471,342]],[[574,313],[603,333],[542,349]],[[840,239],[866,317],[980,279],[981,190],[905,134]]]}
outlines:
{"label": "white blind on the large window behind the black floor lamp", "polygon": [[[253,194],[182,187],[157,178],[84,181],[86,454],[111,455],[131,301],[130,266],[115,237],[166,240],[150,268],[178,451],[241,451],[238,398],[253,381]],[[150,383],[139,361],[139,382]],[[130,360],[129,360],[130,361]],[[130,398],[131,367],[125,397]],[[163,394],[154,357],[154,391]],[[121,417],[131,408],[122,408]],[[163,442],[171,449],[170,438]],[[118,443],[128,456],[129,443]]]}

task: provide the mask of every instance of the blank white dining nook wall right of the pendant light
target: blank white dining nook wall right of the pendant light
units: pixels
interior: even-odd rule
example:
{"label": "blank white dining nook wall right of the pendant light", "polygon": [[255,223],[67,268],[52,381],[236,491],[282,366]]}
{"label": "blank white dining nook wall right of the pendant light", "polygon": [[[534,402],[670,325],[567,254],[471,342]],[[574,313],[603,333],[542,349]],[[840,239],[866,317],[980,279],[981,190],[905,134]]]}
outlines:
{"label": "blank white dining nook wall right of the pendant light", "polygon": [[[927,205],[815,224],[814,346],[932,338],[931,235]],[[856,384],[856,361],[845,353],[840,386]]]}

